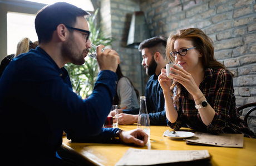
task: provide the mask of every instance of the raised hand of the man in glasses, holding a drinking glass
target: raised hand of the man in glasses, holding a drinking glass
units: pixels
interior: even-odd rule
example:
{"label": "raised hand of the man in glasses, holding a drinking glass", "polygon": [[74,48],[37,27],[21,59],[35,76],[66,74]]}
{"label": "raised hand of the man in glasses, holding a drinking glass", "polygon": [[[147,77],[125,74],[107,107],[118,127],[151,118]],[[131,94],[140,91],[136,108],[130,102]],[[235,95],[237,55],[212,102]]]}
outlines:
{"label": "raised hand of the man in glasses, holding a drinking glass", "polygon": [[99,71],[101,70],[111,70],[116,72],[117,65],[119,64],[119,56],[115,50],[106,49],[103,53],[101,50],[104,48],[104,45],[99,45],[96,48],[97,53],[97,63]]}

